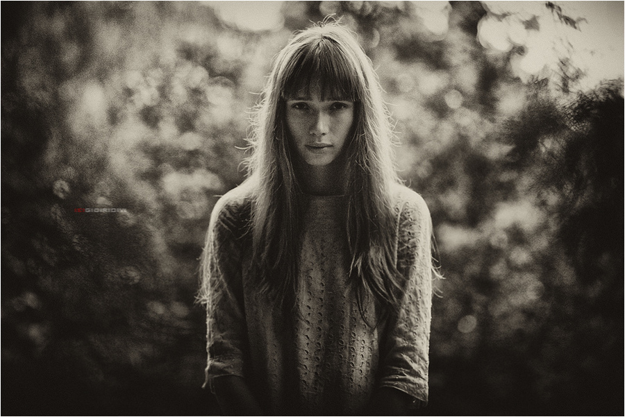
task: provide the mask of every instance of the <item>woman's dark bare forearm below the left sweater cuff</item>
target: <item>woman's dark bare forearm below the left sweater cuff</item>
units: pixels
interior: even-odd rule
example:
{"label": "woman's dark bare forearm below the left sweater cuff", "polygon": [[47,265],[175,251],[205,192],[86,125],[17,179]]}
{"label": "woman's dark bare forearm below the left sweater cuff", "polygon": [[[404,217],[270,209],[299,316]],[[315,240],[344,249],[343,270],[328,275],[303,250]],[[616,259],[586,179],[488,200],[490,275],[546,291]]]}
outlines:
{"label": "woman's dark bare forearm below the left sweater cuff", "polygon": [[263,411],[244,378],[226,375],[213,378],[213,390],[224,416],[262,416]]}

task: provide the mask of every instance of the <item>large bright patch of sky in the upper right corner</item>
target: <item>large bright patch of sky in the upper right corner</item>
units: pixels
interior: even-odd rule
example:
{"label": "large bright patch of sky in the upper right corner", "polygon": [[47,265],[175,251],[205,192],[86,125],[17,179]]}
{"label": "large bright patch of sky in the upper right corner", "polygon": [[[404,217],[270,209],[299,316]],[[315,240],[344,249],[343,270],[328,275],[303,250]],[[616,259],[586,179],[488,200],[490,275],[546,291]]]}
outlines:
{"label": "large bright patch of sky in the upper right corner", "polygon": [[583,76],[567,89],[588,91],[601,80],[624,77],[623,3],[565,1],[542,7],[535,1],[484,1],[487,15],[478,40],[499,53],[514,46],[511,59],[524,82],[562,76],[562,62]]}

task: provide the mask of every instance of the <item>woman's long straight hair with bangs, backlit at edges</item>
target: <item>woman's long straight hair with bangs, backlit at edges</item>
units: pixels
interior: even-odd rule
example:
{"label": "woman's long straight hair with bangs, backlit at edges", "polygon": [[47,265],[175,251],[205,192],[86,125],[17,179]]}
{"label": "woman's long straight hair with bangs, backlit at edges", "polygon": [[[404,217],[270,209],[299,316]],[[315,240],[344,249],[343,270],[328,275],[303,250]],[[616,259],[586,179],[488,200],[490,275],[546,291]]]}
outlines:
{"label": "woman's long straight hair with bangs, backlit at edges", "polygon": [[253,190],[256,285],[282,305],[292,304],[297,291],[306,196],[294,171],[285,101],[311,86],[320,89],[322,100],[340,97],[355,103],[345,167],[349,280],[361,312],[369,295],[385,310],[396,310],[402,278],[394,259],[391,188],[400,180],[393,164],[392,128],[372,62],[353,35],[335,23],[308,28],[285,46],[256,112],[246,180]]}

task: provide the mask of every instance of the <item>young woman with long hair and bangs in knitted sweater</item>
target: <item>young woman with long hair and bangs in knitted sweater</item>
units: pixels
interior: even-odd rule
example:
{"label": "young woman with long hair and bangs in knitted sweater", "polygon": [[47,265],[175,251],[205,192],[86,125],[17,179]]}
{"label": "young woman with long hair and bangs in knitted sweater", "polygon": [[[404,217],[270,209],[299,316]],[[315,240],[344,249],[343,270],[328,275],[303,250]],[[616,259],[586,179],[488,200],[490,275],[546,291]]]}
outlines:
{"label": "young woman with long hair and bangs in knitted sweater", "polygon": [[206,382],[226,414],[394,414],[428,398],[431,218],[381,87],[338,24],[278,54],[249,177],[203,253]]}

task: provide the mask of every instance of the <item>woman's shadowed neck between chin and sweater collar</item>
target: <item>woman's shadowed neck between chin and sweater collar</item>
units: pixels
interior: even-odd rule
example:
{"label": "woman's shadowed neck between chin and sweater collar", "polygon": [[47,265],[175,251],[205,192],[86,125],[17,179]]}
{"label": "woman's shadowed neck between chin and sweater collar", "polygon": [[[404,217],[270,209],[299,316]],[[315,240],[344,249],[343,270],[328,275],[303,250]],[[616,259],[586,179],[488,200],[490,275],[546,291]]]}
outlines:
{"label": "woman's shadowed neck between chin and sweater collar", "polygon": [[344,171],[344,164],[315,167],[302,163],[297,169],[297,176],[306,194],[336,196],[345,193]]}

